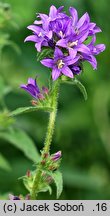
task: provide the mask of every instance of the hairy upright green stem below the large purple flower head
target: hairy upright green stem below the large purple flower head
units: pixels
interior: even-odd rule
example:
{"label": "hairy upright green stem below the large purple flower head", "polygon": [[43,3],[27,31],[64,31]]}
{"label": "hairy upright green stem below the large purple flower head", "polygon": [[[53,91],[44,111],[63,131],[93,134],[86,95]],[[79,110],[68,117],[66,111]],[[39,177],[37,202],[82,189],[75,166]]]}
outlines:
{"label": "hairy upright green stem below the large purple flower head", "polygon": [[[48,123],[46,138],[45,138],[45,142],[44,142],[44,148],[43,148],[43,151],[41,154],[41,161],[43,159],[44,154],[49,153],[49,151],[50,151],[50,145],[52,142],[54,127],[55,127],[56,114],[57,114],[58,93],[59,93],[59,84],[60,84],[59,82],[60,81],[57,80],[53,84],[52,95],[51,95],[52,111],[50,112],[49,123]],[[38,165],[37,171],[36,171],[36,176],[35,176],[32,191],[31,191],[31,200],[35,200],[37,195],[38,195],[41,177],[42,177],[42,163],[40,162]]]}

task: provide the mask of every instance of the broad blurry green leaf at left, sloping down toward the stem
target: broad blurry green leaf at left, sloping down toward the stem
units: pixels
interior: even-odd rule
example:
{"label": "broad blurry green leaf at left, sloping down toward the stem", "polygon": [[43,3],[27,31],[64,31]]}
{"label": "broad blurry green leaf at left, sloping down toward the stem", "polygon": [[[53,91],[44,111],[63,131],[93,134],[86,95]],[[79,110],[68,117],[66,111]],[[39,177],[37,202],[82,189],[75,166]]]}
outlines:
{"label": "broad blurry green leaf at left, sloping down toward the stem", "polygon": [[12,129],[0,132],[0,138],[8,141],[11,145],[20,149],[27,158],[33,162],[40,160],[39,153],[32,139],[21,129]]}

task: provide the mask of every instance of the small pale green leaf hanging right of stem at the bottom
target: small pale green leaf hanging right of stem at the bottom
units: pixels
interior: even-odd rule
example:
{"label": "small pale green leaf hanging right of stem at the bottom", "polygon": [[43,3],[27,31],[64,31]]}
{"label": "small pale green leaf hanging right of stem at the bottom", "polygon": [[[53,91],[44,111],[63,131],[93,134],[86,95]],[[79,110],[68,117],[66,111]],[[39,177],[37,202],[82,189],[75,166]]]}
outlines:
{"label": "small pale green leaf hanging right of stem at the bottom", "polygon": [[60,197],[62,190],[63,190],[63,178],[62,173],[60,171],[56,171],[51,174],[52,178],[56,184],[57,187],[57,199]]}

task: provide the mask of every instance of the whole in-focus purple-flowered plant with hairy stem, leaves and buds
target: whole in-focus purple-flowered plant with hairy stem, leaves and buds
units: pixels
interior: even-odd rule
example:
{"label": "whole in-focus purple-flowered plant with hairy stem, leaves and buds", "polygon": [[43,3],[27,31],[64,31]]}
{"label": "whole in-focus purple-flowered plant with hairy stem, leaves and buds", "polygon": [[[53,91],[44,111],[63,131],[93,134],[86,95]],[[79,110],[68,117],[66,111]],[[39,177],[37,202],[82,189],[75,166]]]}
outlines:
{"label": "whole in-focus purple-flowered plant with hairy stem, leaves and buds", "polygon": [[[82,70],[84,71],[83,62],[85,61],[96,70],[95,56],[105,49],[104,44],[96,44],[96,34],[101,32],[101,29],[96,23],[90,21],[88,13],[79,19],[75,8],[69,8],[69,16],[63,12],[63,8],[63,6],[58,9],[51,6],[49,15],[37,14],[35,22],[28,26],[32,34],[25,39],[25,42],[35,43],[37,60],[51,70],[49,72],[51,73],[51,85],[43,86],[40,89],[37,79],[29,78],[28,83],[22,84],[21,88],[31,95],[33,107],[13,112],[14,115],[19,112],[27,112],[27,110],[33,111],[33,109],[49,112],[47,133],[40,161],[37,162],[34,171],[28,171],[23,177],[24,185],[29,193],[26,198],[32,200],[38,198],[39,192],[49,191],[51,194],[53,182],[57,186],[57,198],[63,189],[62,174],[59,171],[62,152],[58,150],[57,153],[50,153],[58,111],[60,85],[67,83],[78,86],[86,99],[86,90],[77,77]],[[23,199],[22,196],[20,198],[20,196],[10,195],[10,197],[11,199]]]}

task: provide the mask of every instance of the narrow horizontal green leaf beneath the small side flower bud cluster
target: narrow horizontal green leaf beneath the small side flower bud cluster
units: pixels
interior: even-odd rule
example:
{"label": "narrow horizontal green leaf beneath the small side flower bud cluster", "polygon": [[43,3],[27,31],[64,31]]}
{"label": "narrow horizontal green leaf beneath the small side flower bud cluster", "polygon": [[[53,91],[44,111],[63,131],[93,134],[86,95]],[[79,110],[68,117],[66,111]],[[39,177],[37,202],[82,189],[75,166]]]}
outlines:
{"label": "narrow horizontal green leaf beneath the small side flower bud cluster", "polygon": [[50,111],[52,111],[52,108],[50,108],[50,107],[43,107],[43,106],[21,107],[21,108],[18,108],[16,110],[12,111],[11,113],[9,113],[8,116],[9,117],[17,116],[17,115],[20,115],[20,114],[23,114],[23,113],[33,112],[33,111],[37,111],[37,110],[42,110],[42,111],[50,112]]}

